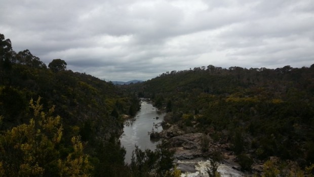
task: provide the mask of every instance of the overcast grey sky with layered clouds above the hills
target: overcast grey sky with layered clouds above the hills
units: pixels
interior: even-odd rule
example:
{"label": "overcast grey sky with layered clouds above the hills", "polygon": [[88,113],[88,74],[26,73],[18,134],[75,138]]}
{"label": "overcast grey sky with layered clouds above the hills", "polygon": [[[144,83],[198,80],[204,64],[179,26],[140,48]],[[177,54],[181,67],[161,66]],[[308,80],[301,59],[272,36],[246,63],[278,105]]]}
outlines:
{"label": "overcast grey sky with layered clouds above the hills", "polygon": [[313,0],[0,0],[0,33],[16,52],[105,80],[166,71],[309,67]]}

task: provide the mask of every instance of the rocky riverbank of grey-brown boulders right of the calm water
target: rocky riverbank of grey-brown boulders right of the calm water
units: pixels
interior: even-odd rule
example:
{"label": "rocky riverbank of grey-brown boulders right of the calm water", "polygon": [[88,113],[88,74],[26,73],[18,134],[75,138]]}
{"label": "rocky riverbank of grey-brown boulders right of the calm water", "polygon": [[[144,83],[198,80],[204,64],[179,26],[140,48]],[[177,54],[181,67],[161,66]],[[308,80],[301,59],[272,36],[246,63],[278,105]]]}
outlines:
{"label": "rocky riverbank of grey-brown boulders right of the calm water", "polygon": [[[241,171],[237,157],[231,151],[229,143],[214,141],[209,135],[201,132],[186,132],[178,125],[167,125],[168,128],[162,132],[153,132],[151,138],[164,138],[170,142],[171,150],[174,150],[174,157],[178,163],[178,169],[183,173],[195,174],[206,169],[206,164],[210,164],[208,159],[214,158],[220,162],[221,174],[231,174],[232,176],[251,175],[253,173]],[[204,169],[200,166],[204,167]],[[255,164],[253,170],[256,173],[262,171],[262,165]],[[219,171],[219,170],[218,170]],[[229,171],[229,173],[228,173]],[[225,175],[223,175],[225,176]]]}

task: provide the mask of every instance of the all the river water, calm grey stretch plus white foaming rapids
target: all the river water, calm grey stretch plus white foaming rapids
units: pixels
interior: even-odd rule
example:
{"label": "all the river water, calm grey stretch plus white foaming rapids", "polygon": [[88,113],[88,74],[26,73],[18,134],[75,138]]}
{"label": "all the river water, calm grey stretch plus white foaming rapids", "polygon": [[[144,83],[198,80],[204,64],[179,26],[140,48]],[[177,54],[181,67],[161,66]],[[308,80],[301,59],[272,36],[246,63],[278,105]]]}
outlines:
{"label": "all the river water, calm grey stretch plus white foaming rapids", "polygon": [[[120,138],[121,146],[126,148],[125,162],[131,162],[132,151],[135,150],[137,145],[141,150],[150,149],[155,150],[156,145],[160,141],[151,141],[148,135],[148,131],[152,128],[154,131],[162,131],[162,126],[155,126],[160,124],[164,120],[166,113],[158,111],[152,106],[151,103],[142,100],[141,110],[132,119],[128,119],[124,123],[123,135]],[[156,119],[156,117],[159,117]],[[191,159],[191,160],[178,160],[178,166],[190,166],[195,169],[195,172],[185,172],[181,176],[196,177],[196,176],[208,176],[206,173],[207,166],[210,164],[209,160],[206,159]],[[185,170],[189,169],[186,167]],[[239,177],[244,176],[241,171],[235,170],[228,164],[220,164],[218,171],[221,176],[233,176]]]}

